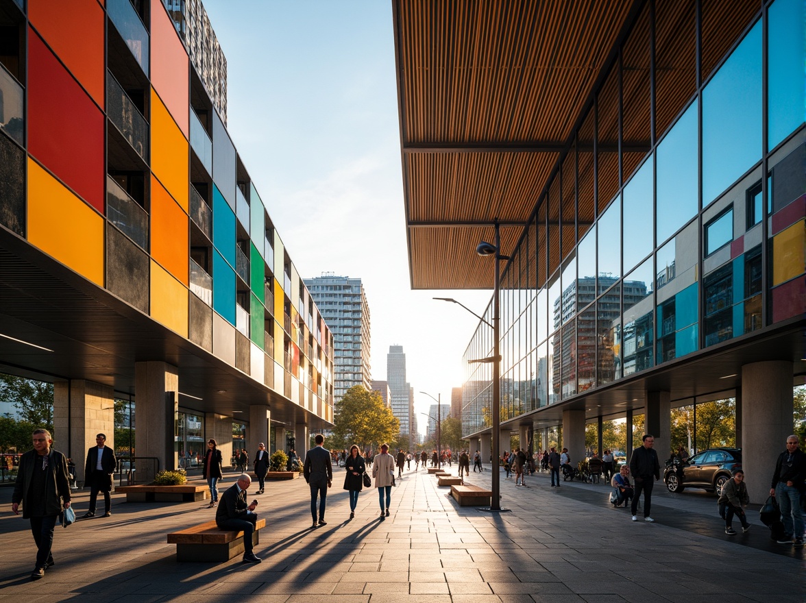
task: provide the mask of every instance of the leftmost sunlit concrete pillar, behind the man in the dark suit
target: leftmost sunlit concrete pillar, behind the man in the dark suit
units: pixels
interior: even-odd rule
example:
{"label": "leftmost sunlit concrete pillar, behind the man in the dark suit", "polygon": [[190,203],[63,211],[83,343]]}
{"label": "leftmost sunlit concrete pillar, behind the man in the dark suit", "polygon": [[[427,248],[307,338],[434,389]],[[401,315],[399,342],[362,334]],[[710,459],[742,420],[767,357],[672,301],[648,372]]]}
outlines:
{"label": "leftmost sunlit concrete pillar, behind the man in the dark suit", "polygon": [[114,450],[114,391],[108,385],[73,379],[53,384],[53,447],[73,459],[76,480],[84,481],[87,451],[106,435]]}

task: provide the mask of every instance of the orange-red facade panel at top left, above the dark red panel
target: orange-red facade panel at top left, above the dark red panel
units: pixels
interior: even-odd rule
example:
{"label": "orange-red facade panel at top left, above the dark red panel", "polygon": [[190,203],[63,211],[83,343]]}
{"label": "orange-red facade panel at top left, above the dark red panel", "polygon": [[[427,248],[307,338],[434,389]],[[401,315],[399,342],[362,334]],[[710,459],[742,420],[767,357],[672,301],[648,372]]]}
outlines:
{"label": "orange-red facade panel at top left, above the dark red panel", "polygon": [[97,0],[28,2],[28,19],[89,95],[104,106],[104,12]]}

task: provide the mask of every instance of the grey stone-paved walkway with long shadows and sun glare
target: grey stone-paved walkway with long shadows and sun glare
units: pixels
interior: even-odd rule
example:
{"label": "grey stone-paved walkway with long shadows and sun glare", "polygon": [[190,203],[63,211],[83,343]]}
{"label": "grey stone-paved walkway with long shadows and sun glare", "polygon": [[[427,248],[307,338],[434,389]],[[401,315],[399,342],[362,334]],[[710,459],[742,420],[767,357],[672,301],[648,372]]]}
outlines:
{"label": "grey stone-paved walkway with long shadows and sun glare", "polygon": [[[454,466],[452,472],[458,468]],[[222,484],[234,480],[229,474]],[[468,483],[488,485],[490,472]],[[31,584],[35,549],[27,521],[10,513],[0,488],[2,601],[260,601],[296,603],[615,603],[616,601],[806,601],[804,549],[777,545],[757,520],[727,536],[716,497],[671,495],[656,487],[656,523],[613,509],[606,484],[563,483],[548,474],[526,488],[501,476],[501,505],[490,514],[458,507],[433,476],[409,471],[381,520],[376,490],[359,497],[349,520],[339,469],[327,526],[310,529],[304,480],[268,482],[257,497],[267,518],[256,554],[263,563],[177,563],[165,534],[213,518],[201,503],[124,502],[111,518],[56,526],[56,566]],[[77,514],[88,491],[73,498]],[[750,518],[758,515],[750,513]],[[736,522],[738,525],[738,522]]]}

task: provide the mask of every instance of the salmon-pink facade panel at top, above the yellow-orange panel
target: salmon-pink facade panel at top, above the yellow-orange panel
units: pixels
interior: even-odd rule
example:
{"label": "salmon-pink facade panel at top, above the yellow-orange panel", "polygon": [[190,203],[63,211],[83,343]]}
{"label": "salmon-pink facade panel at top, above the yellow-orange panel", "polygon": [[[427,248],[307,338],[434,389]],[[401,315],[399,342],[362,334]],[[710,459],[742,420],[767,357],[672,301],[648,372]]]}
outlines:
{"label": "salmon-pink facade panel at top, above the yellow-orange panel", "polygon": [[163,3],[152,2],[151,5],[151,52],[157,58],[151,64],[152,85],[179,124],[182,134],[189,138],[188,55]]}

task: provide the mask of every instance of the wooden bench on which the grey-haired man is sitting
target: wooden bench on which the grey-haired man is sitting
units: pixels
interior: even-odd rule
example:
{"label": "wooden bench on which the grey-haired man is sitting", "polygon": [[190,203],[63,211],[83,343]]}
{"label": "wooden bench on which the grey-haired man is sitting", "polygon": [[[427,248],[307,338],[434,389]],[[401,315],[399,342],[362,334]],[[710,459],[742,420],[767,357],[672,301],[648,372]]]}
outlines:
{"label": "wooden bench on which the grey-haired man is sitting", "polygon": [[[258,519],[252,532],[252,545],[256,545],[258,531],[266,527],[265,519]],[[229,561],[243,555],[243,532],[222,530],[212,522],[200,523],[185,530],[168,534],[168,544],[177,545],[177,561]]]}

